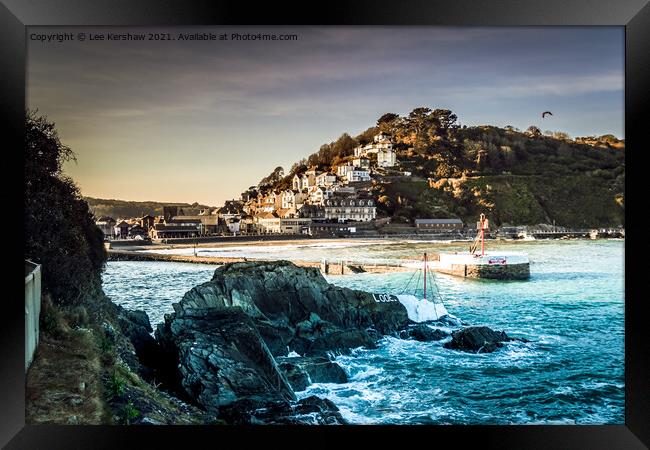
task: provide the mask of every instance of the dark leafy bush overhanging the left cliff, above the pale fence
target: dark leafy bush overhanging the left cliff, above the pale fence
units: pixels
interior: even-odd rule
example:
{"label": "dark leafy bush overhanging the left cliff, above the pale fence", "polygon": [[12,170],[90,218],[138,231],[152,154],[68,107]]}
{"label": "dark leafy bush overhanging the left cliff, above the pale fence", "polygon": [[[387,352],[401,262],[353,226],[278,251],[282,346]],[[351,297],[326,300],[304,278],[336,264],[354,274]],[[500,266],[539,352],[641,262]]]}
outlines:
{"label": "dark leafy bush overhanging the left cliff, above the pale fence", "polygon": [[25,258],[43,265],[43,289],[55,304],[81,303],[101,290],[103,234],[74,181],[62,173],[74,160],[53,123],[26,116]]}

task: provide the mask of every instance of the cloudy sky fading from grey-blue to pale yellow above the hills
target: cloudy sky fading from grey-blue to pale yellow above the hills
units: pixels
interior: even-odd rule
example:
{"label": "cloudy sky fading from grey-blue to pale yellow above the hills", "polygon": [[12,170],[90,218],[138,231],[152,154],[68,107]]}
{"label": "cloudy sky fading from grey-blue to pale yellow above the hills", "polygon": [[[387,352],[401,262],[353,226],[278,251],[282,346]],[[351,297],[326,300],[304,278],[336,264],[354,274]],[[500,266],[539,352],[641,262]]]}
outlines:
{"label": "cloudy sky fading from grey-blue to pale yellow above the hills", "polygon": [[[298,37],[179,40],[204,32]],[[53,33],[73,40],[38,40]],[[176,40],[90,40],[108,33]],[[30,27],[27,39],[27,106],[56,124],[77,156],[65,172],[90,197],[221,205],[420,106],[467,126],[624,138],[622,27]]]}

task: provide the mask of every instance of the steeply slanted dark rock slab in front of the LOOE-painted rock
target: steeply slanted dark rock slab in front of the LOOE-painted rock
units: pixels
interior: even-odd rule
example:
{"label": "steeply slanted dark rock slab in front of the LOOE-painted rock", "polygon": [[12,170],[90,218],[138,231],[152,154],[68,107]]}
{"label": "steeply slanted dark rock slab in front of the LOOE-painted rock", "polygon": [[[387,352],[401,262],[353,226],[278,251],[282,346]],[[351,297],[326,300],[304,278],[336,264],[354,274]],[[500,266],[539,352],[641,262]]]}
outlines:
{"label": "steeply slanted dark rock slab in front of the LOOE-painted rock", "polygon": [[156,337],[185,393],[209,412],[242,398],[295,400],[284,374],[241,308],[182,309],[165,317]]}

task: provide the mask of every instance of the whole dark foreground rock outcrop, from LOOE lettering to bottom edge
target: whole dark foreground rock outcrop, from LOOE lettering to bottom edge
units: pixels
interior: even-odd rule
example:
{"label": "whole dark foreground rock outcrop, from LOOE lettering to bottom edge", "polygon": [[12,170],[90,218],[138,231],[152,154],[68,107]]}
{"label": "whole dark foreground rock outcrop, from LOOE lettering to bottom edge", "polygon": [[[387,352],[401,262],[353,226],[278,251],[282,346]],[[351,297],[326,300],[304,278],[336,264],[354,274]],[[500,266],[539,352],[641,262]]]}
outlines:
{"label": "whole dark foreground rock outcrop, from LOOE lettering to bottom edge", "polygon": [[[170,378],[209,412],[237,423],[343,423],[329,401],[296,402],[285,373],[298,389],[321,377],[344,382],[342,370],[327,364],[330,352],[374,347],[412,323],[399,302],[378,303],[288,261],[219,267],[174,311],[156,330]],[[290,352],[318,359],[283,358],[280,368],[275,358]],[[277,420],[264,411],[277,412]]]}

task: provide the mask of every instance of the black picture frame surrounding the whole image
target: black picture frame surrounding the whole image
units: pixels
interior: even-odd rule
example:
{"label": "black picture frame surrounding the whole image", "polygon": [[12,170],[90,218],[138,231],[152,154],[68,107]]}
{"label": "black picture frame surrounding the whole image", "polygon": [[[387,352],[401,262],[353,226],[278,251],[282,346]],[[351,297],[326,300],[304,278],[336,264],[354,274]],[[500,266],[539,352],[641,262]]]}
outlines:
{"label": "black picture frame surrounding the whole image", "polygon": [[[446,26],[623,26],[625,27],[625,139],[627,164],[632,179],[641,179],[647,110],[650,105],[650,5],[648,0],[493,0],[493,1],[407,1],[340,0],[310,3],[235,1],[65,1],[65,0],[3,0],[0,4],[0,61],[2,78],[0,112],[5,134],[9,139],[4,156],[9,170],[22,173],[24,145],[24,108],[26,74],[26,26],[36,25],[446,25]],[[647,141],[647,138],[646,138]],[[15,161],[14,161],[15,159]],[[634,161],[639,161],[634,164]],[[14,165],[15,164],[15,165]],[[5,183],[17,183],[9,181]],[[629,176],[628,176],[629,179]],[[19,182],[19,181],[18,181]],[[13,190],[11,186],[14,186]],[[22,198],[16,184],[5,186],[5,212],[21,211]],[[637,188],[642,189],[642,188]],[[640,205],[642,191],[626,186],[626,202],[630,197],[635,208]],[[631,194],[631,195],[630,195]],[[15,218],[15,214],[9,214]],[[15,219],[21,220],[21,219]],[[7,225],[15,228],[12,222]],[[625,252],[625,425],[620,426],[396,426],[396,427],[122,427],[122,426],[26,426],[24,323],[20,302],[5,294],[0,326],[0,444],[8,449],[53,448],[130,448],[137,446],[168,448],[175,446],[225,445],[224,438],[237,439],[238,445],[249,439],[270,439],[285,445],[312,445],[318,442],[348,443],[346,438],[360,435],[363,439],[386,441],[397,437],[400,445],[466,444],[468,439],[481,448],[648,448],[650,445],[650,339],[647,338],[643,315],[643,266],[640,222],[626,215],[627,240]],[[12,233],[15,236],[15,232]],[[22,242],[13,243],[13,266],[7,279],[17,285],[17,271],[22,259]],[[627,243],[627,241],[626,241]],[[18,297],[20,298],[20,297]],[[315,434],[316,433],[316,434]],[[417,436],[414,436],[416,434]],[[345,440],[343,440],[345,439]],[[284,443],[283,443],[284,442]],[[302,442],[302,444],[300,444]],[[309,444],[306,444],[309,443]]]}

